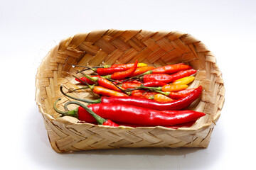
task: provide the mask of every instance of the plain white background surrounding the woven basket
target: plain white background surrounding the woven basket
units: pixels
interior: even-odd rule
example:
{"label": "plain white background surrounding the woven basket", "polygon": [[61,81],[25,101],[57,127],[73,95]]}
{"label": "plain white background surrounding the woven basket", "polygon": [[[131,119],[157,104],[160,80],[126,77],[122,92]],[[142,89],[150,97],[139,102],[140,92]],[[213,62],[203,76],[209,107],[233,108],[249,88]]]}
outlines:
{"label": "plain white background surrounding the woven basket", "polygon": [[[256,1],[0,1],[4,169],[254,169]],[[63,38],[95,29],[180,30],[215,54],[225,104],[207,149],[58,154],[36,106],[36,68]]]}

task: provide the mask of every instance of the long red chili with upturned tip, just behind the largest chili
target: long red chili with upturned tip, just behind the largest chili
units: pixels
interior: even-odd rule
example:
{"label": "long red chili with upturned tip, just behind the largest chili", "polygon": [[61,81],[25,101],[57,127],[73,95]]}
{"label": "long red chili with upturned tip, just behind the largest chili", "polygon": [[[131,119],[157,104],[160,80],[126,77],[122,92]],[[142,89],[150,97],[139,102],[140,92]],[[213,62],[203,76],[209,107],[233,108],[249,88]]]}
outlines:
{"label": "long red chili with upturned tip, just behind the largest chili", "polygon": [[[62,91],[62,86],[60,86],[60,91]],[[157,101],[152,101],[149,98],[137,98],[137,97],[102,97],[96,100],[87,100],[83,98],[75,98],[73,96],[69,96],[68,94],[63,93],[65,96],[73,98],[78,101],[83,101],[85,103],[120,103],[127,104],[132,106],[140,106],[143,108],[151,108],[156,109],[158,111],[177,111],[183,108],[186,108],[193,103],[199,96],[201,96],[202,86],[198,86],[197,89],[192,91],[188,96],[184,98],[180,98],[174,101],[161,103]]]}

